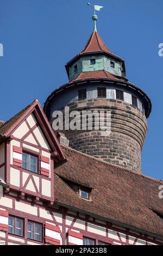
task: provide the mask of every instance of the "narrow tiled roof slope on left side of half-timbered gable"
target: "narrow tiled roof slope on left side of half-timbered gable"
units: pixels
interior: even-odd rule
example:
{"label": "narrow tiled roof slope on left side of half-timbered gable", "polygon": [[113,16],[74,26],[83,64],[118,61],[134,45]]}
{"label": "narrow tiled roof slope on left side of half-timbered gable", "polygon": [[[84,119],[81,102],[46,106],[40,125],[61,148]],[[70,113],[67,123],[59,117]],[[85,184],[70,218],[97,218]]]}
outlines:
{"label": "narrow tiled roof slope on left side of half-timbered gable", "polygon": [[8,120],[7,122],[3,123],[2,126],[0,126],[0,135],[7,133],[8,130],[27,112],[27,110],[33,104],[35,104],[35,100],[31,104],[29,104],[26,108],[24,108],[23,110],[18,112],[18,114],[16,114],[15,116],[11,117],[10,120]]}

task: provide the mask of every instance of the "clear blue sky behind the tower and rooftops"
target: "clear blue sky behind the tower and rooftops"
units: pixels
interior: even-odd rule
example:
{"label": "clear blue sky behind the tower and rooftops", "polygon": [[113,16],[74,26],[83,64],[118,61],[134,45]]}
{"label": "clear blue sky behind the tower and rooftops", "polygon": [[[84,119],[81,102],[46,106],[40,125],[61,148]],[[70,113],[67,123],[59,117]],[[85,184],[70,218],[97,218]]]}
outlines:
{"label": "clear blue sky behind the tower and rooftops", "polygon": [[[86,0],[0,0],[0,120],[68,81],[65,64],[83,49],[93,24]],[[97,29],[106,45],[126,60],[127,78],[151,98],[143,174],[163,179],[162,0],[92,0],[103,5]]]}

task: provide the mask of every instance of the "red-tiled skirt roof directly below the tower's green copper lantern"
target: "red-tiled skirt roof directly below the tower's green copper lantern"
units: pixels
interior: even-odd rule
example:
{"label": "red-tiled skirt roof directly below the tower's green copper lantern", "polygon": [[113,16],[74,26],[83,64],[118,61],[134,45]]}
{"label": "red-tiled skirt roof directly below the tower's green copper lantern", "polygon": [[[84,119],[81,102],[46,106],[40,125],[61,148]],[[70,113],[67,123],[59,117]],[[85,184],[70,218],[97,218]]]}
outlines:
{"label": "red-tiled skirt roof directly below the tower's green copper lantern", "polygon": [[109,72],[106,72],[105,70],[99,70],[99,71],[89,71],[89,72],[82,72],[80,73],[77,78],[73,79],[71,82],[77,81],[77,80],[85,80],[89,78],[108,78],[111,80],[127,80],[125,78],[122,78],[121,76],[116,76],[114,74],[111,74]]}

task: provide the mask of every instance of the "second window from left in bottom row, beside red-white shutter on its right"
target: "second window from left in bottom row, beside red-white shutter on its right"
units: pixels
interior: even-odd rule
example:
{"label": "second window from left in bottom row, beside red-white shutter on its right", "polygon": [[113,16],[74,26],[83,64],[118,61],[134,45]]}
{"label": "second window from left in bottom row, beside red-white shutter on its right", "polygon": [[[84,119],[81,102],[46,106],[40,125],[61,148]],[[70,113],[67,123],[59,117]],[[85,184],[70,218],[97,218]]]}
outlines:
{"label": "second window from left in bottom row, beside red-white shutter on its right", "polygon": [[27,237],[36,241],[42,241],[42,224],[28,221]]}

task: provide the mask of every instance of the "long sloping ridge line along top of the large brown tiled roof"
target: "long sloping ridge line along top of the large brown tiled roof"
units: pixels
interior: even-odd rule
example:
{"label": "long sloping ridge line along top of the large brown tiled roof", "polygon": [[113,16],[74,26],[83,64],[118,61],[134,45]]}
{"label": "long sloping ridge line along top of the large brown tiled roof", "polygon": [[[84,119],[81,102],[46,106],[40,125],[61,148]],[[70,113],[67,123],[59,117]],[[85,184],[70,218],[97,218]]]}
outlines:
{"label": "long sloping ridge line along top of the large brown tiled roof", "polygon": [[67,146],[61,145],[61,147],[64,147],[64,148],[66,148],[67,150],[71,150],[71,151],[73,151],[73,152],[76,152],[77,154],[83,154],[83,156],[85,156],[85,157],[87,157],[87,158],[91,158],[91,159],[95,160],[97,163],[98,163],[98,162],[101,162],[101,163],[103,163],[104,165],[113,166],[113,167],[116,167],[116,168],[118,168],[118,169],[125,170],[125,171],[127,171],[127,172],[129,172],[129,173],[131,173],[131,174],[136,175],[136,176],[141,176],[141,177],[143,177],[143,178],[147,178],[148,180],[153,180],[153,181],[156,182],[156,183],[163,184],[161,180],[156,180],[156,178],[152,178],[152,177],[149,177],[149,176],[144,175],[144,174],[139,174],[139,173],[137,173],[137,172],[135,172],[135,171],[131,171],[131,170],[128,170],[128,169],[126,169],[126,168],[122,168],[121,166],[117,166],[117,165],[115,165],[115,164],[107,163],[107,162],[105,162],[105,161],[102,160],[102,159],[99,159],[99,158],[96,158],[96,157],[93,157],[93,156],[89,156],[89,154],[86,154],[86,153],[83,153],[83,152],[74,150],[74,148],[72,148],[72,147],[70,147],[70,146],[67,147]]}

